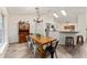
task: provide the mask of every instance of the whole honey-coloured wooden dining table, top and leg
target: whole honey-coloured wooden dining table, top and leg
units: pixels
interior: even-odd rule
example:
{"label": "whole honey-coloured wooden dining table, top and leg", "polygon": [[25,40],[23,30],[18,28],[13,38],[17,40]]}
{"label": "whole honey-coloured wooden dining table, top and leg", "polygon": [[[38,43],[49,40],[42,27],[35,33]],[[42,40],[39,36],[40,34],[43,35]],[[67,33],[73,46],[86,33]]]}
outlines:
{"label": "whole honey-coloured wooden dining table, top and leg", "polygon": [[40,47],[39,52],[41,53],[41,57],[44,57],[45,52],[43,51],[43,45],[52,44],[52,42],[54,41],[54,39],[48,37],[48,36],[37,37],[36,35],[30,35],[30,37],[32,40],[34,40],[35,43],[39,45],[39,47]]}

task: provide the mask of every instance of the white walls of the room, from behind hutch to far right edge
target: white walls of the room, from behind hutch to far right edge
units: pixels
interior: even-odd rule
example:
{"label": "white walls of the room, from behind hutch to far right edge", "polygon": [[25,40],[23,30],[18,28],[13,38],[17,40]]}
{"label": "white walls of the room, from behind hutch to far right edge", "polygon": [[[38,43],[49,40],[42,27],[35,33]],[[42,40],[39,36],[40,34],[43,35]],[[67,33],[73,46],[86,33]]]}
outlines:
{"label": "white walls of the room, from behind hutch to far right edge", "polygon": [[[33,22],[33,19],[36,18],[34,14],[11,14],[9,17],[9,43],[13,42],[19,42],[19,28],[18,28],[18,22],[20,20],[23,21],[29,21],[30,23],[30,33],[35,32],[35,29],[41,29],[41,33],[44,35],[44,29],[45,29],[45,23],[53,23],[56,25],[57,30],[63,30],[63,22],[59,22],[58,20],[53,19],[51,14],[42,15],[43,19],[43,25],[41,24],[40,26],[36,25]],[[76,31],[79,31],[79,34],[84,35],[84,39],[86,40],[86,14],[79,14],[78,17],[75,18],[74,23],[76,24]]]}

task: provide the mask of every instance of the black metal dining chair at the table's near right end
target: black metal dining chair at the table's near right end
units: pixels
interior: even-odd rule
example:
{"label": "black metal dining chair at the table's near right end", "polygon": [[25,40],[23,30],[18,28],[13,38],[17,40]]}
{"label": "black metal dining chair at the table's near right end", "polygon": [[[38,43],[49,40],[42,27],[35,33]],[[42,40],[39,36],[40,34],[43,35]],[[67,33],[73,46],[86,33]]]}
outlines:
{"label": "black metal dining chair at the table's near right end", "polygon": [[55,56],[57,57],[57,54],[56,54],[57,45],[58,45],[58,41],[55,41],[55,42],[53,42],[52,45],[50,45],[50,46],[47,46],[47,47],[45,48],[45,52],[46,52],[46,53],[50,53],[51,58],[54,57],[54,53],[55,53]]}

